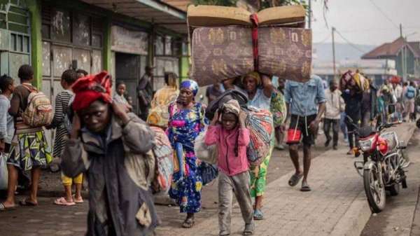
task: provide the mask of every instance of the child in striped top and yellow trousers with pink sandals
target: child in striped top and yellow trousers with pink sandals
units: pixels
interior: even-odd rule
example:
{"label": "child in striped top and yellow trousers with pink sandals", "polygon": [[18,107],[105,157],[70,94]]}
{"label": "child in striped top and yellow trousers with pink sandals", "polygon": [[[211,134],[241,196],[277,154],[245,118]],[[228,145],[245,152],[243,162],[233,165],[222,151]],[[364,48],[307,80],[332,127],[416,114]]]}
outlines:
{"label": "child in striped top and yellow trousers with pink sandals", "polygon": [[[57,97],[55,97],[55,113],[54,119],[52,120],[51,125],[48,127],[55,130],[55,140],[54,140],[54,157],[59,158],[62,155],[64,144],[66,139],[69,139],[69,131],[64,127],[64,114],[66,113],[69,107],[69,101],[73,97],[73,92],[71,90],[71,85],[76,82],[78,74],[73,69],[68,69],[63,72],[61,85],[64,91],[59,92]],[[76,203],[82,203],[83,199],[80,195],[80,190],[83,183],[83,174],[79,174],[76,178],[72,179],[68,176],[65,176],[62,173],[62,183],[64,185],[64,197],[54,201],[54,204],[63,205],[63,206],[73,206]],[[71,185],[74,183],[76,187],[76,194],[71,195]]]}

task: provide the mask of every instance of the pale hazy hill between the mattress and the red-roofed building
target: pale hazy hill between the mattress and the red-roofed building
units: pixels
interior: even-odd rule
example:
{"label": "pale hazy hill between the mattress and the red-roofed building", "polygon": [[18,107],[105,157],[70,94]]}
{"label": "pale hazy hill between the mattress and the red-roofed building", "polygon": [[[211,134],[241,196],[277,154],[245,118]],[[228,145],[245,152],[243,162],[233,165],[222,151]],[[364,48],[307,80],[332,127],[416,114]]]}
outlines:
{"label": "pale hazy hill between the mattress and the red-roofed building", "polygon": [[[313,47],[316,49],[316,60],[332,61],[331,43],[314,43]],[[356,47],[363,50],[364,53],[360,52],[360,50],[357,50],[356,48],[353,48],[348,43],[335,43],[335,60],[358,60],[362,55],[368,53],[377,46],[356,44]]]}

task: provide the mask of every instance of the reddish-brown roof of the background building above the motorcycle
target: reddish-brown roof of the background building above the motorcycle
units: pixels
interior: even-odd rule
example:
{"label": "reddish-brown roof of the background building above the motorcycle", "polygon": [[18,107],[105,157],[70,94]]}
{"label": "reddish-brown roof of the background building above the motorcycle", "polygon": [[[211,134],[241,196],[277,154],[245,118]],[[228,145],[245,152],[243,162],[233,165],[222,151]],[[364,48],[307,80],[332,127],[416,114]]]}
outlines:
{"label": "reddish-brown roof of the background building above the motorcycle", "polygon": [[[415,46],[414,44],[417,43]],[[407,46],[412,51],[414,57],[420,57],[419,42],[407,43],[402,37],[396,39],[392,43],[384,43],[381,46],[374,48],[369,53],[362,56],[362,59],[377,59],[383,56],[397,56],[403,46]],[[414,48],[413,48],[414,47]],[[419,48],[419,49],[417,49]]]}

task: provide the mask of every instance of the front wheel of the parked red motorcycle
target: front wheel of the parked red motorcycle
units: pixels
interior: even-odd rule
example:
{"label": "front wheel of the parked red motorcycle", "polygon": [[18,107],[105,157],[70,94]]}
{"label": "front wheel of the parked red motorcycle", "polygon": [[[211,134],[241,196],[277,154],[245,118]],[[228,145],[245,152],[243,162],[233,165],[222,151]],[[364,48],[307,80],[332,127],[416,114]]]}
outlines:
{"label": "front wheel of the parked red motorcycle", "polygon": [[376,165],[372,166],[372,169],[365,169],[363,172],[363,185],[365,186],[365,192],[367,202],[375,213],[379,213],[385,209],[385,186],[379,186],[379,172]]}

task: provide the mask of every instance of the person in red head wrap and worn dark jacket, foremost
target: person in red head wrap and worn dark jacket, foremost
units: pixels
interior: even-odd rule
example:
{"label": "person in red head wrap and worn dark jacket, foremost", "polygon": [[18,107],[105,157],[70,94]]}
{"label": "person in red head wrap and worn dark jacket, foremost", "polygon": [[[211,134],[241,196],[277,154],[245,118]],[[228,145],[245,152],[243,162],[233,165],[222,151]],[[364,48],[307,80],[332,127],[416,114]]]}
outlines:
{"label": "person in red head wrap and worn dark jacket, foremost", "polygon": [[160,221],[148,192],[153,132],[126,106],[111,102],[108,72],[80,78],[71,88],[74,116],[61,165],[71,178],[87,171],[86,235],[148,235]]}

